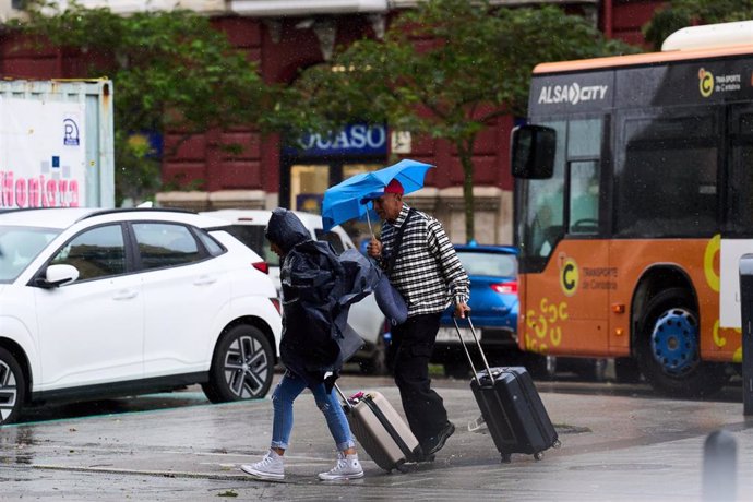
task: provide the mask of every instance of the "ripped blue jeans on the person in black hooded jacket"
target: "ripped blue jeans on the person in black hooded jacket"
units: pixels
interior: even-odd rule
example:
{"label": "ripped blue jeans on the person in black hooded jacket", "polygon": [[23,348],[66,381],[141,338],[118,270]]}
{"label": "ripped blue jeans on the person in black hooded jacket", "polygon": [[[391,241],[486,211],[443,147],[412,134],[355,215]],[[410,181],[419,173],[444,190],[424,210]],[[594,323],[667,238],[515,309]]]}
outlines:
{"label": "ripped blue jeans on the person in black hooded jacket", "polygon": [[[272,405],[275,410],[275,418],[272,425],[272,447],[282,450],[288,449],[290,432],[292,431],[292,402],[306,390],[306,381],[300,376],[286,371],[283,380],[279,381],[275,392],[272,394]],[[316,406],[324,414],[326,425],[330,427],[332,438],[338,451],[344,451],[356,446],[356,442],[350,433],[348,419],[345,417],[343,406],[337,398],[335,390],[330,394],[323,383],[311,387]]]}

